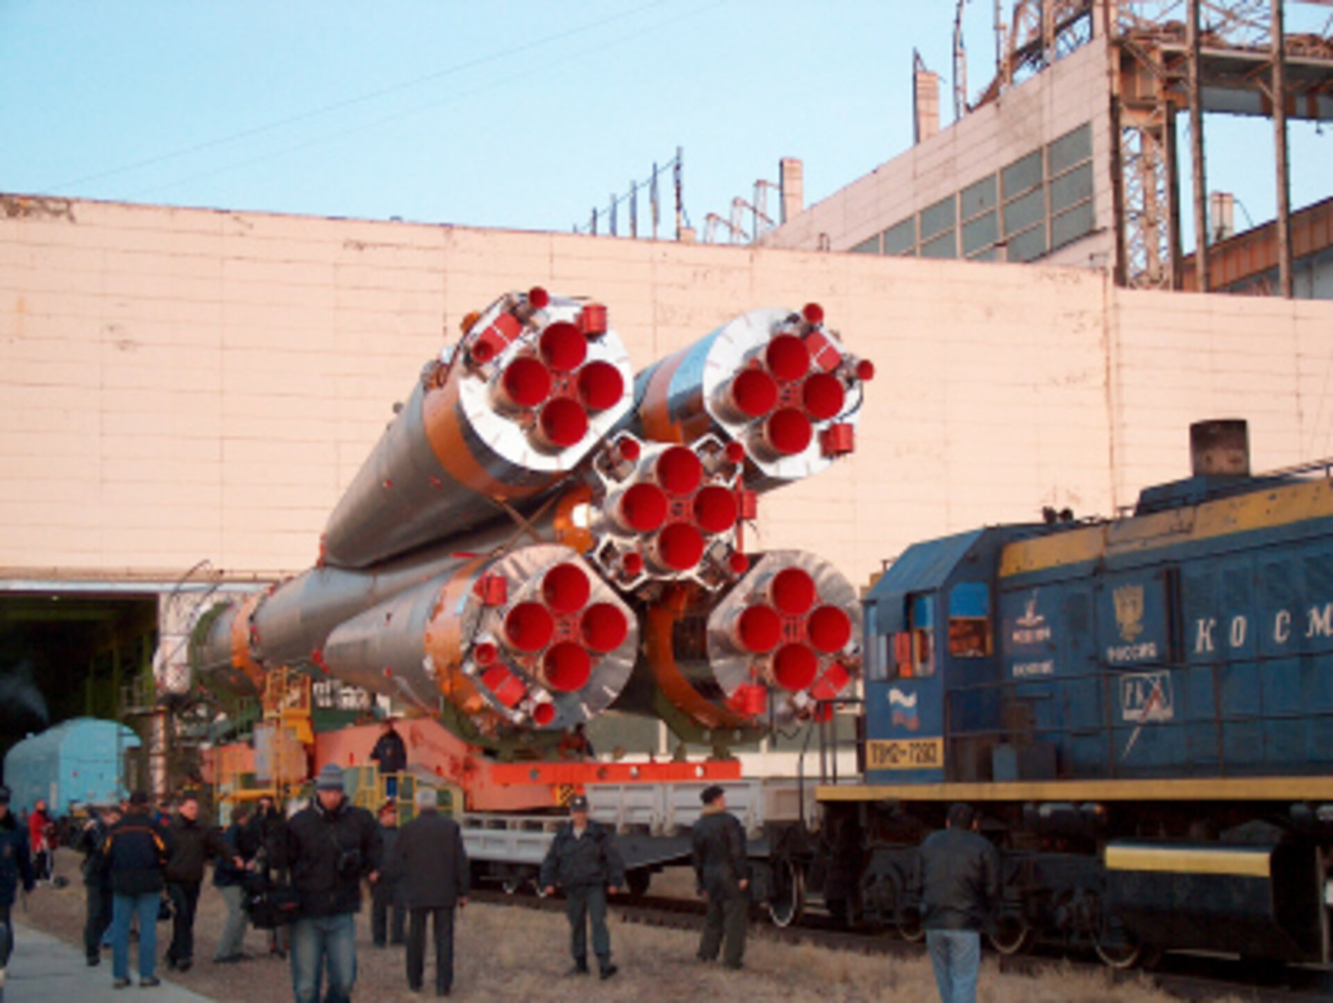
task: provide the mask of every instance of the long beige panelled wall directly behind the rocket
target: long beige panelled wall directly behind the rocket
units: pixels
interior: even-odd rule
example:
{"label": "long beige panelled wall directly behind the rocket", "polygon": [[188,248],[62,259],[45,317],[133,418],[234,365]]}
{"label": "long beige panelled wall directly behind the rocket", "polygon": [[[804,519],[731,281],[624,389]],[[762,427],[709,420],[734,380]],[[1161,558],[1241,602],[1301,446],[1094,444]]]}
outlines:
{"label": "long beige panelled wall directly behind the rocket", "polygon": [[307,567],[463,316],[541,284],[608,304],[647,366],[821,302],[878,368],[858,449],[766,496],[760,541],[864,582],[913,539],[1109,514],[1188,473],[1186,425],[1257,468],[1333,452],[1333,304],[1136,293],[973,265],[0,197],[0,579]]}

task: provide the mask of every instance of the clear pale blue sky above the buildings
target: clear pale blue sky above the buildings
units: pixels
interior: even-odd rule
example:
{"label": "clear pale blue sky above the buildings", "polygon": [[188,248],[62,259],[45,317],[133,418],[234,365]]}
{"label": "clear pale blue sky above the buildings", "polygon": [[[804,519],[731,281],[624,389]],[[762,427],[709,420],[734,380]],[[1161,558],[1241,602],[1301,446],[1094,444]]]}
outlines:
{"label": "clear pale blue sky above the buildings", "polygon": [[[968,8],[973,93],[990,9]],[[809,202],[906,149],[913,49],[950,104],[953,11],[0,0],[0,190],[568,230],[682,147],[702,229],[780,157],[804,160]],[[1270,218],[1270,125],[1209,116],[1205,135],[1209,188]],[[1333,125],[1293,124],[1292,164],[1294,205],[1333,194]]]}

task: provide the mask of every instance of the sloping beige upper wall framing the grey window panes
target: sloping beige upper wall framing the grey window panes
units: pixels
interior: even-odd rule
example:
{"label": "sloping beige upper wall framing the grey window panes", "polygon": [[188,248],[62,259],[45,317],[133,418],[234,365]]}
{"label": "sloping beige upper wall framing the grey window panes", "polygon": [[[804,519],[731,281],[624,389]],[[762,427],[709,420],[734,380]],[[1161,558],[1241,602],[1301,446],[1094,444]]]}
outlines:
{"label": "sloping beige upper wall framing the grey window panes", "polygon": [[1096,226],[1044,264],[1114,262],[1110,93],[1098,36],[1050,69],[916,144],[760,238],[764,246],[850,250],[928,205],[1089,123]]}

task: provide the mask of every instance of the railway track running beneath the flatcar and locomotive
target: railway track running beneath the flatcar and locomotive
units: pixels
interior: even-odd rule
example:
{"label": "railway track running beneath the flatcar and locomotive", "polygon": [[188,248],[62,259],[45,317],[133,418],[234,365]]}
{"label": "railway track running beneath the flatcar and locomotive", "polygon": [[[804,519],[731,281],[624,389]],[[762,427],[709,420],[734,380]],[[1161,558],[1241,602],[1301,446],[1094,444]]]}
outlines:
{"label": "railway track running beneath the flatcar and locomotive", "polygon": [[[505,894],[480,888],[472,892],[475,902],[544,912],[564,912],[563,898],[541,898],[531,892]],[[700,930],[704,924],[704,903],[694,899],[644,895],[636,899],[616,898],[611,911],[624,923],[640,923],[673,930]],[[754,923],[750,936],[780,943],[808,943],[833,951],[854,951],[894,958],[918,958],[925,952],[922,943],[901,938],[846,930],[828,916],[806,916],[798,927],[774,927]],[[1178,999],[1216,1000],[1234,998],[1245,1003],[1314,1003],[1333,1000],[1333,975],[1305,967],[1246,966],[1233,958],[1172,954],[1152,971],[1113,971],[1100,962],[1080,960],[1066,955],[1033,952],[998,958],[1000,971],[1040,976],[1045,970],[1061,966],[1076,971],[1100,971],[1114,982],[1128,982],[1146,976],[1160,990]]]}

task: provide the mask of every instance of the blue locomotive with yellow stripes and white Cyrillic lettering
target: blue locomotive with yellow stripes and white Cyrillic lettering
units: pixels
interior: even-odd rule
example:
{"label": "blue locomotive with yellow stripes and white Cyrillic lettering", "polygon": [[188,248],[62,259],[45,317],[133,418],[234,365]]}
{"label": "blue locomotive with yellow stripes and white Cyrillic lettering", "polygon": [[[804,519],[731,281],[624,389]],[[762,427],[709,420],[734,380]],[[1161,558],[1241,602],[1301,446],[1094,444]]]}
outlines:
{"label": "blue locomotive with yellow stripes and white Cyrillic lettering", "polygon": [[916,936],[916,843],[968,801],[1005,864],[1001,951],[1330,962],[1333,481],[1250,477],[1244,422],[1192,436],[1194,476],[1132,517],[1048,513],[884,573],[864,769],[790,850],[806,892]]}

